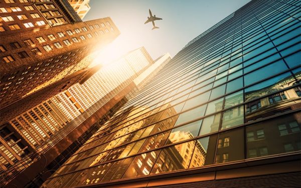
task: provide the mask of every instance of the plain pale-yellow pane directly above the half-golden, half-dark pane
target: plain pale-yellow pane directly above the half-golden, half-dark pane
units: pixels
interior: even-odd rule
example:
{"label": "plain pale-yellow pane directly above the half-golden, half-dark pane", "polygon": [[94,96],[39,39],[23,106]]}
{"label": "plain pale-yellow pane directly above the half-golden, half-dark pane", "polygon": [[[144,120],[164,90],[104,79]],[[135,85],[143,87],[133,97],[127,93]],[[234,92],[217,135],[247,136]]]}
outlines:
{"label": "plain pale-yellow pane directly above the half-golden, half-dark pane", "polygon": [[220,119],[221,113],[204,118],[199,136],[218,131]]}

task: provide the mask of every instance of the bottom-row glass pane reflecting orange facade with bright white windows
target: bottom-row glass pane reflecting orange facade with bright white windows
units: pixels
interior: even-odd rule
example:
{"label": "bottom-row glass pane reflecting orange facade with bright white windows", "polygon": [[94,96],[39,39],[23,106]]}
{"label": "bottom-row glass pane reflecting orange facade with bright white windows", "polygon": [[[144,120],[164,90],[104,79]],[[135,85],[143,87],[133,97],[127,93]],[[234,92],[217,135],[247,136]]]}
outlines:
{"label": "bottom-row glass pane reflecting orange facade with bright white windows", "polygon": [[137,155],[127,168],[122,178],[148,175],[159,155],[160,150]]}

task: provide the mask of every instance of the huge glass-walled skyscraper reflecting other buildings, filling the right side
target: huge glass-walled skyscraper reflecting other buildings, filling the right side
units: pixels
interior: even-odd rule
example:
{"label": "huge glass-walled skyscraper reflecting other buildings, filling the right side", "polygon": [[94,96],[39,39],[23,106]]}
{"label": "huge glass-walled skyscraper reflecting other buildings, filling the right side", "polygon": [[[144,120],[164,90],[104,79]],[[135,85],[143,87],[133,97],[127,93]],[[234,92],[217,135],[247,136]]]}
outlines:
{"label": "huge glass-walled skyscraper reflecting other buildings, filling the right side", "polygon": [[251,1],[192,40],[44,187],[300,186],[299,5]]}

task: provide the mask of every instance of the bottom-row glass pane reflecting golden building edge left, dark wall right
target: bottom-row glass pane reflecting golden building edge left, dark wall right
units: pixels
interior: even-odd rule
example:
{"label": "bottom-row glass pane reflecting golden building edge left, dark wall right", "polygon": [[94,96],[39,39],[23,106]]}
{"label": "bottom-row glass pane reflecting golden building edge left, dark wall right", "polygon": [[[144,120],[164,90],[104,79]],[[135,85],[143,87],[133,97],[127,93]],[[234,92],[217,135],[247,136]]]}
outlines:
{"label": "bottom-row glass pane reflecting golden building edge left, dark wall right", "polygon": [[216,140],[216,134],[197,140],[189,168],[213,164]]}

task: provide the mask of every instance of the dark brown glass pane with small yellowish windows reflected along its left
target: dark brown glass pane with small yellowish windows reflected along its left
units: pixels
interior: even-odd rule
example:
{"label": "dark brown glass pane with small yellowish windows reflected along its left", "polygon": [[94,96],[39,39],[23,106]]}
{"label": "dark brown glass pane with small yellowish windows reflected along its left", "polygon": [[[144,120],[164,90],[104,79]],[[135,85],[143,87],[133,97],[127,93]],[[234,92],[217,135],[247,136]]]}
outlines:
{"label": "dark brown glass pane with small yellowish windows reflected along its left", "polygon": [[220,133],[215,163],[244,159],[244,129],[237,128]]}

